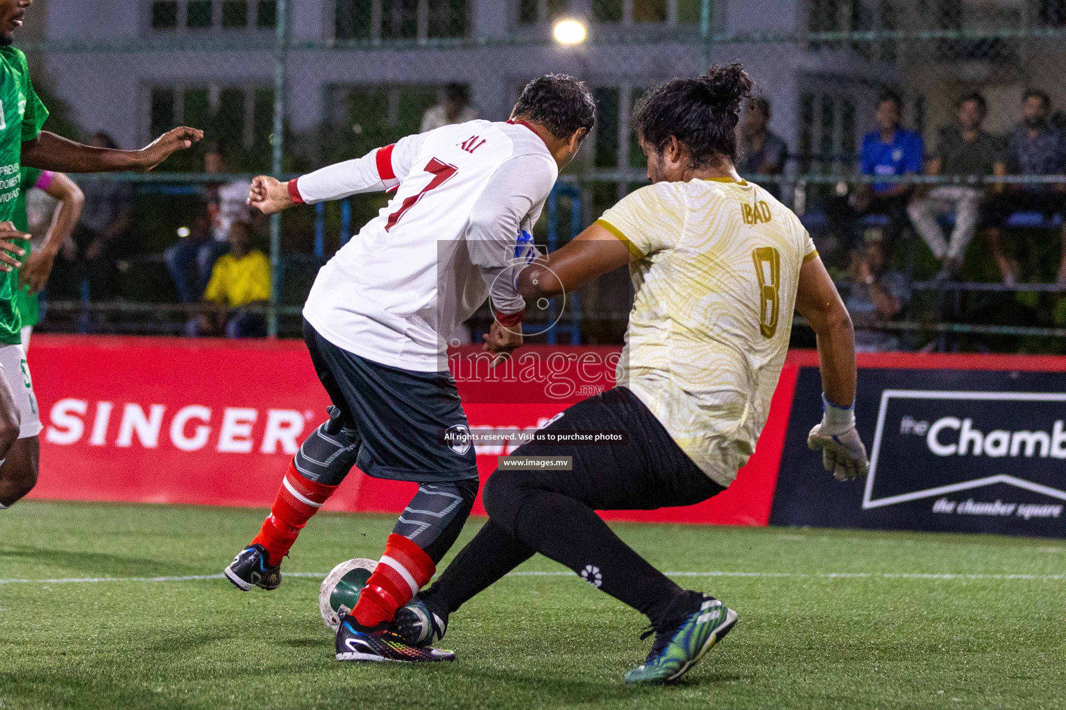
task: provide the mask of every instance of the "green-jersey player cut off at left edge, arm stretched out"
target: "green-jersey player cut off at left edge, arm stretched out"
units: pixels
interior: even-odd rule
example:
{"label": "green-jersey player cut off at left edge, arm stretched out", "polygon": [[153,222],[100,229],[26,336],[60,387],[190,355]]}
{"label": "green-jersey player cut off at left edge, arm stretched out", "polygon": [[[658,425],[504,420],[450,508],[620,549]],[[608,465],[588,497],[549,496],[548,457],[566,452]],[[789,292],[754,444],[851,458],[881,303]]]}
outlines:
{"label": "green-jersey player cut off at left edge, arm stretched out", "polygon": [[33,0],[0,0],[0,510],[33,489],[39,461],[41,418],[15,302],[16,269],[26,255],[15,241],[29,238],[12,222],[22,166],[56,172],[146,172],[204,137],[200,131],[182,127],[141,150],[111,150],[43,131],[48,110],[33,90],[26,55],[12,46],[32,4]]}

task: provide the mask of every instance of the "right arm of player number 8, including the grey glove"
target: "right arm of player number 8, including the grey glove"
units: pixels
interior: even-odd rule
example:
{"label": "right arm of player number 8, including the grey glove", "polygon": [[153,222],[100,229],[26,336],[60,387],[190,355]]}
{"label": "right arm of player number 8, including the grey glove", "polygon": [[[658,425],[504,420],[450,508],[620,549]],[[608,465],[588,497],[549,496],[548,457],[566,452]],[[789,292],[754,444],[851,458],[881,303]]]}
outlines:
{"label": "right arm of player number 8, including the grey glove", "polygon": [[800,270],[796,311],[818,335],[822,370],[821,424],[807,445],[822,450],[822,465],[838,480],[865,476],[870,468],[866,447],[855,430],[855,331],[833,279],[817,255]]}

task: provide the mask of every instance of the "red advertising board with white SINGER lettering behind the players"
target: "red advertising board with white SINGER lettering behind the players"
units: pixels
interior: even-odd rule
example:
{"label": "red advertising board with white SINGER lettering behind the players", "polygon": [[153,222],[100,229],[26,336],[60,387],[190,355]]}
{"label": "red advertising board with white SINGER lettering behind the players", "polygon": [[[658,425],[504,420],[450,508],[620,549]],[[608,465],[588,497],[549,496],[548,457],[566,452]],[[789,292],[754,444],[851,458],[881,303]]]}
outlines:
{"label": "red advertising board with white SINGER lettering behind the players", "polygon": [[[453,371],[472,428],[535,429],[611,386],[612,358],[616,348],[531,347],[496,379],[477,366]],[[329,403],[297,341],[35,335],[29,362],[45,426],[35,498],[266,507]],[[609,516],[765,525],[796,374],[786,365],[758,450],[728,491]],[[501,448],[479,450],[483,479]],[[401,511],[413,491],[353,473],[326,509]]]}

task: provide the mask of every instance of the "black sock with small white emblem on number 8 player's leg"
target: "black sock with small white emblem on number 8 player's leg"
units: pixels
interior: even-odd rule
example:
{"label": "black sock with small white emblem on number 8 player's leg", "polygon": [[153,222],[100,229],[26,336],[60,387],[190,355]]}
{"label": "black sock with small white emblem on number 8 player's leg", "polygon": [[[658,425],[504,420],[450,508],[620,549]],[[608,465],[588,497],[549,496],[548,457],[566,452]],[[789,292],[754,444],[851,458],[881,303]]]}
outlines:
{"label": "black sock with small white emblem on number 8 player's leg", "polygon": [[561,493],[521,489],[515,538],[660,625],[683,590],[624,543],[592,508]]}

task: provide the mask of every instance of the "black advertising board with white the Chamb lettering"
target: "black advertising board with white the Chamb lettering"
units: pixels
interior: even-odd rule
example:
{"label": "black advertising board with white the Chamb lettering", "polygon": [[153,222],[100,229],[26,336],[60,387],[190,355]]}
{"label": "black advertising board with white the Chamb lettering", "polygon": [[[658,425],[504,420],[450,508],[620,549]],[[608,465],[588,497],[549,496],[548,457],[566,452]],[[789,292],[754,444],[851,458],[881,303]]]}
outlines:
{"label": "black advertising board with white the Chamb lettering", "polygon": [[860,369],[845,482],[807,448],[821,392],[803,367],[771,524],[1066,536],[1066,373]]}

